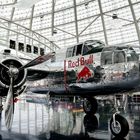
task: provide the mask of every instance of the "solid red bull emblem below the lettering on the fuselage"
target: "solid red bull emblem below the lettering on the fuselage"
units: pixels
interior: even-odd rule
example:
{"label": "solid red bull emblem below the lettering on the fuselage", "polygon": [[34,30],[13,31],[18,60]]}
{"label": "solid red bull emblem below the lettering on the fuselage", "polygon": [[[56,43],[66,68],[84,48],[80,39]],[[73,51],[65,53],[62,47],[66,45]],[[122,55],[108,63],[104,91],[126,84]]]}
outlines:
{"label": "solid red bull emblem below the lettering on the fuselage", "polygon": [[87,80],[88,78],[93,76],[93,72],[85,66],[80,72],[77,73],[77,81],[84,79]]}

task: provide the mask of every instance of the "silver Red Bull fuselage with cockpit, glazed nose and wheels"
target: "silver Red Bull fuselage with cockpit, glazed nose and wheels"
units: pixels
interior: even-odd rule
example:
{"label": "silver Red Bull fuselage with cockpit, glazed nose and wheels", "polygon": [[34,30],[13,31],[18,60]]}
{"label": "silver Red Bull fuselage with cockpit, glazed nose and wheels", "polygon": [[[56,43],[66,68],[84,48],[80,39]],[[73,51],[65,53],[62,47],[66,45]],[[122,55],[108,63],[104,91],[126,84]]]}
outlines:
{"label": "silver Red Bull fuselage with cockpit, glazed nose and wheels", "polygon": [[115,96],[140,90],[139,55],[139,46],[106,46],[99,40],[87,40],[56,51],[42,64],[48,81],[46,87],[30,90],[50,96],[79,96],[83,98],[86,114],[97,112],[96,96],[113,95],[116,112],[110,130],[114,136],[125,137],[129,124],[120,115]]}

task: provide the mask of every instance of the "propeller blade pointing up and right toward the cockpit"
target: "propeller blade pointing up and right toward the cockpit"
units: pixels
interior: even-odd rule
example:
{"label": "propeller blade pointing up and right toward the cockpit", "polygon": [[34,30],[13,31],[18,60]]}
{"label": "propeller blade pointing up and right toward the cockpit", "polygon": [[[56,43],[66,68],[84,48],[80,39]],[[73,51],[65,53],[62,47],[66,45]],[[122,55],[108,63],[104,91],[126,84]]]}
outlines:
{"label": "propeller blade pointing up and right toward the cockpit", "polygon": [[39,57],[35,58],[34,60],[30,61],[29,63],[27,63],[26,65],[20,67],[19,70],[23,70],[25,68],[41,64],[41,63],[49,60],[50,58],[52,58],[54,55],[55,55],[55,52],[51,52],[46,55],[39,56]]}

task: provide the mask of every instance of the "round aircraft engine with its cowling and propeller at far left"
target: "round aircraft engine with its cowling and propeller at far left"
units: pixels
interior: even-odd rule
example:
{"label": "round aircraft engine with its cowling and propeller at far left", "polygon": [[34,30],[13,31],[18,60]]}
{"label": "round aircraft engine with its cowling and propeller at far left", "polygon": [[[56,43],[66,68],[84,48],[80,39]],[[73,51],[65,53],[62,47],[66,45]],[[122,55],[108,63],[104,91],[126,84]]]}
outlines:
{"label": "round aircraft engine with its cowling and propeller at far left", "polygon": [[[2,48],[1,48],[2,49]],[[10,49],[4,49],[3,53],[0,54],[0,96],[6,97],[4,112],[5,112],[5,125],[8,130],[11,129],[13,116],[14,116],[14,102],[16,97],[20,95],[25,89],[25,82],[28,76],[31,79],[43,78],[40,70],[27,70],[27,68],[39,65],[50,58],[52,58],[54,52],[48,53],[46,55],[38,56],[37,58],[31,60],[28,63],[23,63],[21,59],[11,54]],[[34,76],[35,74],[35,76]]]}

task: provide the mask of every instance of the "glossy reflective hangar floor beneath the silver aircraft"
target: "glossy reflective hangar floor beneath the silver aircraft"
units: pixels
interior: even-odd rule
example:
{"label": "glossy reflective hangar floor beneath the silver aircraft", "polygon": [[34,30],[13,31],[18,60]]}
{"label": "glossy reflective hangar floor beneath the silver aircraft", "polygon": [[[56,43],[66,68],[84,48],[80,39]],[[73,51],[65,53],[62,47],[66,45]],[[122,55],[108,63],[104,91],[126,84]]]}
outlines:
{"label": "glossy reflective hangar floor beneath the silver aircraft", "polygon": [[[25,96],[24,96],[25,97]],[[123,140],[114,138],[109,129],[113,113],[110,100],[98,100],[95,115],[86,115],[80,98],[34,95],[21,98],[15,105],[12,129],[5,127],[1,114],[0,140]],[[140,103],[129,102],[126,117],[130,132],[124,140],[140,139]]]}

